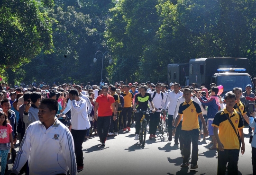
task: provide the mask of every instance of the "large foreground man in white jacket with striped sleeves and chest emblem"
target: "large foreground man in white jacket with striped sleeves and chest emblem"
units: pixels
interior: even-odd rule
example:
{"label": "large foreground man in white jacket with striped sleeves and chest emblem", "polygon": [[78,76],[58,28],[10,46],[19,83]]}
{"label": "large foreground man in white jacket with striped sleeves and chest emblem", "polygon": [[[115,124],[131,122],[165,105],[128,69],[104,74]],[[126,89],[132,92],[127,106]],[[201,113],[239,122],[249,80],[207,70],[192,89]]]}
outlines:
{"label": "large foreground man in white jacket with striped sleeves and chest emblem", "polygon": [[74,142],[68,128],[57,117],[58,102],[43,99],[39,107],[39,121],[31,123],[20,144],[12,173],[18,175],[27,162],[31,175],[77,174]]}

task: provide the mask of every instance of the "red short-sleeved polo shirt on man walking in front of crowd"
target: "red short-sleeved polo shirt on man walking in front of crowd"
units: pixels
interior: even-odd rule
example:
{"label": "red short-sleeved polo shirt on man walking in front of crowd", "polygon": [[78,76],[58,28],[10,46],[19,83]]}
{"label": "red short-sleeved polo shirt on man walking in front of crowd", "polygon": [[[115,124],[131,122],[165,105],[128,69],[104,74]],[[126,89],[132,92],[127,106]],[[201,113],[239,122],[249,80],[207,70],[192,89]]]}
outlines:
{"label": "red short-sleeved polo shirt on man walking in front of crowd", "polygon": [[109,94],[107,96],[104,96],[103,94],[101,94],[96,98],[96,102],[99,104],[98,117],[106,117],[112,115],[111,104],[115,103],[115,99],[113,96],[110,96]]}

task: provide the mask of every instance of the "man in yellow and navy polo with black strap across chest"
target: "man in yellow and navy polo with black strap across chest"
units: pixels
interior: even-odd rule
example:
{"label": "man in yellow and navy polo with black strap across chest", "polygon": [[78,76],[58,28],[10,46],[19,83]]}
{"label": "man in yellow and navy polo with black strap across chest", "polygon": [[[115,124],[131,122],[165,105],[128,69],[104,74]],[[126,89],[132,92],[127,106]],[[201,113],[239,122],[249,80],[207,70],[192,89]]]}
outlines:
{"label": "man in yellow and navy polo with black strap across chest", "polygon": [[228,162],[228,174],[238,175],[239,137],[242,142],[241,153],[244,154],[245,152],[244,123],[242,115],[233,108],[237,103],[236,95],[228,93],[225,96],[224,102],[226,103],[226,108],[216,113],[212,122],[214,136],[218,143],[217,175],[226,174]]}

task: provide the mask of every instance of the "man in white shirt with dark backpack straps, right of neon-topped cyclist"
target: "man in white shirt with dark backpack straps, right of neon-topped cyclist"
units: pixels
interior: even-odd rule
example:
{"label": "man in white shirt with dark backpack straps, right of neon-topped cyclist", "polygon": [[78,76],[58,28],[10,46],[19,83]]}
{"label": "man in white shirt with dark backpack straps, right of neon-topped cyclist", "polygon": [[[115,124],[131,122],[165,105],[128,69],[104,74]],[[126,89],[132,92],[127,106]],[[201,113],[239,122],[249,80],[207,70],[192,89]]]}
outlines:
{"label": "man in white shirt with dark backpack straps, right of neon-topped cyclist", "polygon": [[[165,96],[165,93],[161,91],[160,83],[156,84],[156,91],[151,92],[150,95],[152,98],[152,102],[155,105],[155,110],[160,109],[155,111],[155,113],[150,114],[149,139],[153,139],[153,138],[156,138],[155,132],[156,132],[157,125],[160,122],[160,113],[161,113],[162,106],[165,105],[166,96]],[[150,109],[151,110],[153,109],[152,106],[150,106]]]}

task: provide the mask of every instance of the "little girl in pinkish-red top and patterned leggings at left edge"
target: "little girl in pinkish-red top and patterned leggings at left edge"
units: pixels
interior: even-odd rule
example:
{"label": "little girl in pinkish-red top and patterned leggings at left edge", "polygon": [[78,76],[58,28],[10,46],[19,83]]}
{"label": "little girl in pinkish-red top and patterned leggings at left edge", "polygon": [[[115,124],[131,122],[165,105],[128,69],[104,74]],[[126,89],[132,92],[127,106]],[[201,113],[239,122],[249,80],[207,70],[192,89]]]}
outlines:
{"label": "little girl in pinkish-red top and patterned leggings at left edge", "polygon": [[10,148],[14,149],[12,128],[7,119],[7,114],[0,112],[0,156],[1,158],[1,175],[5,173],[7,156]]}

